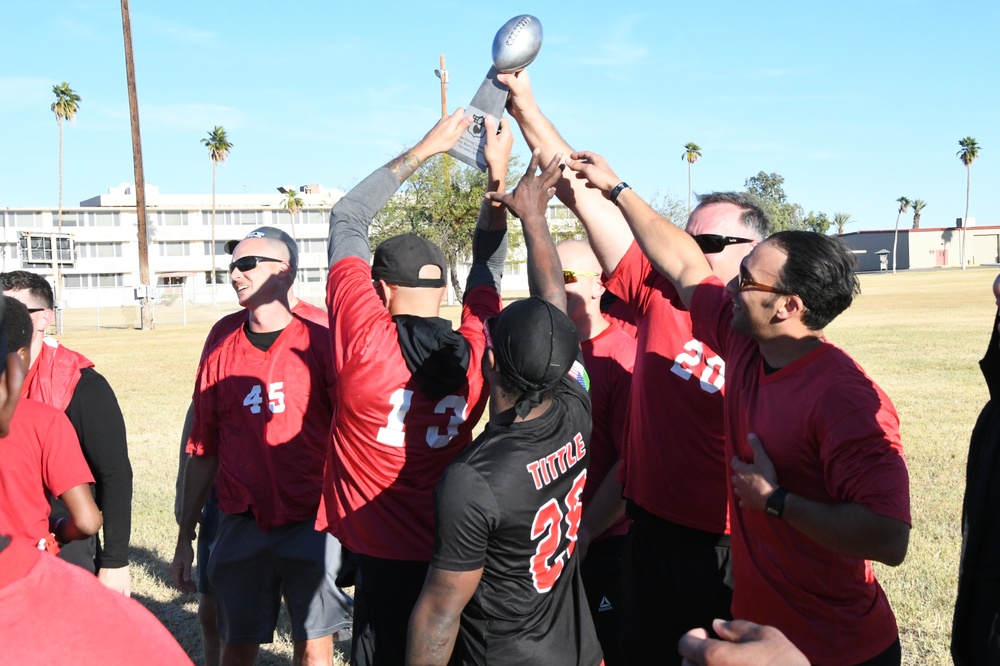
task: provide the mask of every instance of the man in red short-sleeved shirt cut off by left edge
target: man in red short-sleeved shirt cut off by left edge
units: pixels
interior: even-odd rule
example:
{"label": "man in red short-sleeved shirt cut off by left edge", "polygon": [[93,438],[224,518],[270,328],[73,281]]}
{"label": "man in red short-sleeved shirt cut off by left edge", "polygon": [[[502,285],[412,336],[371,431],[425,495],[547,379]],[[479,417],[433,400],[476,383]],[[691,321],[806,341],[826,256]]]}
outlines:
{"label": "man in red short-sleeved shirt cut off by left edge", "polygon": [[[11,296],[4,302],[4,337],[16,360],[12,375],[23,377],[30,362],[32,321]],[[0,357],[3,358],[3,357]],[[101,512],[90,486],[94,477],[65,414],[30,398],[17,403],[17,418],[0,442],[0,532],[40,550],[86,539],[101,528]],[[58,497],[65,516],[52,516],[49,497]]]}

